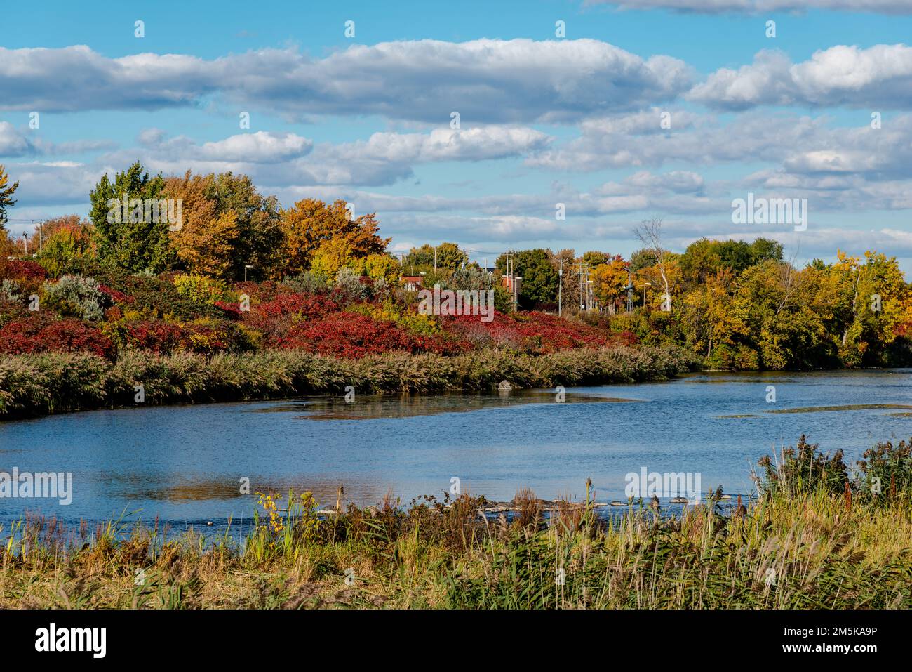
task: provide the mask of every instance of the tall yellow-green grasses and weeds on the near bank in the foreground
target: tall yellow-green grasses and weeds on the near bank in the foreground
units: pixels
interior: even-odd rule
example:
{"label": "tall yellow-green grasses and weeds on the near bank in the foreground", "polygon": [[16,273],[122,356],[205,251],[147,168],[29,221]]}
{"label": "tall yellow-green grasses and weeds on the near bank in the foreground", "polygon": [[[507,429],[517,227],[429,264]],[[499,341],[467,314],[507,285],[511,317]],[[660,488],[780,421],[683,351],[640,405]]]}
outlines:
{"label": "tall yellow-green grasses and weeds on the near bank in the foreground", "polygon": [[550,505],[523,489],[509,519],[468,493],[364,509],[340,493],[322,518],[309,492],[257,493],[253,527],[214,541],[28,516],[0,530],[0,608],[912,607],[908,442],[850,474],[802,436],[753,476],[744,507],[717,490],[680,514],[640,501],[609,520],[588,489]]}

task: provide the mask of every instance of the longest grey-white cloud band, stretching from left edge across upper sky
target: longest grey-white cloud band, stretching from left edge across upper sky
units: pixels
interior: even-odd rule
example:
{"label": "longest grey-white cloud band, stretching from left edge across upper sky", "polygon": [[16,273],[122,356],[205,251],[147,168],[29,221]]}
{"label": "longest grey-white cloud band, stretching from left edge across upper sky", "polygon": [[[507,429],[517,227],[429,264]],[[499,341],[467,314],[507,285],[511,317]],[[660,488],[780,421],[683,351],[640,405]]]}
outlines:
{"label": "longest grey-white cloud band, stretching from left edge across upper sky", "polygon": [[0,48],[0,109],[190,106],[212,94],[289,115],[377,114],[463,123],[573,121],[636,110],[690,88],[668,56],[640,58],[594,39],[477,39],[354,45],[326,58],[262,49],[206,60],[106,58],[89,47]]}

